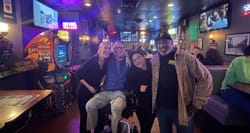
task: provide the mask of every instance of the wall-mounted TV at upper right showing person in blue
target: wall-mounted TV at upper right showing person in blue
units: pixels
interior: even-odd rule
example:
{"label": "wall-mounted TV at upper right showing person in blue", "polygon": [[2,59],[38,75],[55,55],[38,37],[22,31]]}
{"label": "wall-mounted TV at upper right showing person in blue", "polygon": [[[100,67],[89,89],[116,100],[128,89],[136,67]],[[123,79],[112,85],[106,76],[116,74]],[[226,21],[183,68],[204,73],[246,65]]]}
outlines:
{"label": "wall-mounted TV at upper right showing person in blue", "polygon": [[199,19],[199,30],[200,32],[207,32],[229,28],[229,17],[229,3],[202,12]]}

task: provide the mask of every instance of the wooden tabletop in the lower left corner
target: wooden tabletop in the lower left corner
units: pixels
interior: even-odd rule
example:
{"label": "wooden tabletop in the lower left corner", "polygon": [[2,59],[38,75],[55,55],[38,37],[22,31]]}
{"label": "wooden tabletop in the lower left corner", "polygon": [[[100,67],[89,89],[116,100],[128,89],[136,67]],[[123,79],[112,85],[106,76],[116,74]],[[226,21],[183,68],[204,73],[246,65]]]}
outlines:
{"label": "wooden tabletop in the lower left corner", "polygon": [[11,105],[13,102],[10,102],[9,105],[8,103],[0,105],[0,129],[4,127],[5,123],[17,119],[51,93],[52,90],[0,90],[0,97],[2,100],[8,96],[32,96],[32,98],[29,98],[22,104]]}

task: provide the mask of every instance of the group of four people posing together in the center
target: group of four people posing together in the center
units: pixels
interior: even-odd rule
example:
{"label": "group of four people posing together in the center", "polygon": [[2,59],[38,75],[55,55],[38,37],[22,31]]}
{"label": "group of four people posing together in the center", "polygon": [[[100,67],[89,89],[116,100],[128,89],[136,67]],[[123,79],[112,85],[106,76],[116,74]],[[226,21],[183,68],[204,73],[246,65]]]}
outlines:
{"label": "group of four people posing together in the center", "polygon": [[102,42],[98,52],[78,72],[80,132],[98,132],[98,110],[111,105],[111,131],[117,133],[126,92],[136,95],[136,114],[142,133],[150,133],[155,116],[161,133],[193,132],[193,115],[212,92],[212,77],[192,54],[173,48],[173,40],[160,34],[151,61],[141,51],[125,52],[122,42]]}

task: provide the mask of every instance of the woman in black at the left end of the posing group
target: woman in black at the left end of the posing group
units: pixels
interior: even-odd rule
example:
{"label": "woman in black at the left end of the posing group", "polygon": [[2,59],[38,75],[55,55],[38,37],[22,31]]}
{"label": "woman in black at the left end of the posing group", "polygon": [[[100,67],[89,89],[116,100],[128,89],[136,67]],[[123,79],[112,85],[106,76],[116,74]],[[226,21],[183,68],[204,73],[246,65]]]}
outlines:
{"label": "woman in black at the left end of the posing group", "polygon": [[77,98],[80,110],[80,133],[87,133],[87,112],[85,110],[85,104],[94,94],[100,91],[100,84],[106,72],[107,58],[110,55],[110,49],[110,43],[102,42],[97,54],[91,57],[78,70],[77,77],[81,84]]}

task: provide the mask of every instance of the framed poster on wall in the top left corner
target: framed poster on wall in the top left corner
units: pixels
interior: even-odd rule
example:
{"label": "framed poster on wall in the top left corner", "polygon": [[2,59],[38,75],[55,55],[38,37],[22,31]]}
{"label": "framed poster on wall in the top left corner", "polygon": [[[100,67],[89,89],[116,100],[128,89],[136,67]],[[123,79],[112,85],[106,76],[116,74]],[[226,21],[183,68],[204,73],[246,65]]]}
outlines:
{"label": "framed poster on wall in the top left corner", "polygon": [[16,10],[14,0],[2,0],[0,2],[0,21],[16,23]]}

